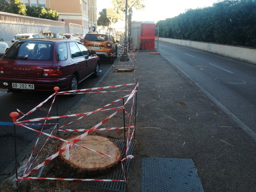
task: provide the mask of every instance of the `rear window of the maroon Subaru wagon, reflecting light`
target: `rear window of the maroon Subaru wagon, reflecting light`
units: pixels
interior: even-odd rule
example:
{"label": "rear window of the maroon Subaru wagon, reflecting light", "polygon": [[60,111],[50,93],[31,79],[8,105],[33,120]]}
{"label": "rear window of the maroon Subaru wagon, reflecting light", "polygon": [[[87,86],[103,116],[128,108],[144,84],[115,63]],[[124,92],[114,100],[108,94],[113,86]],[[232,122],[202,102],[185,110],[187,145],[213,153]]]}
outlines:
{"label": "rear window of the maroon Subaru wagon, reflecting light", "polygon": [[20,41],[14,44],[5,59],[52,61],[53,42]]}

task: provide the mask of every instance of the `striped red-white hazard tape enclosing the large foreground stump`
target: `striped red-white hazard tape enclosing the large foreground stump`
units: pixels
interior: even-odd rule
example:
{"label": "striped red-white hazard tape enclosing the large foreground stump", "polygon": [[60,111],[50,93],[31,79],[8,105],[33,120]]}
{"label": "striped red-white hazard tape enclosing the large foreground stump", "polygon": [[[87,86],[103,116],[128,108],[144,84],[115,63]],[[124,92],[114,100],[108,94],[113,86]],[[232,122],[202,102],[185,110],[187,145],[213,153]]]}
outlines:
{"label": "striped red-white hazard tape enclosing the large foreground stump", "polygon": [[[116,99],[115,101],[112,101],[98,109],[96,109],[95,111],[90,111],[90,112],[85,112],[85,113],[78,113],[78,114],[70,114],[70,115],[62,115],[62,116],[49,116],[50,114],[50,111],[53,107],[53,104],[55,102],[55,99],[56,99],[56,96],[57,95],[61,95],[61,94],[73,94],[75,92],[83,92],[83,93],[88,93],[88,91],[95,91],[95,92],[92,92],[92,93],[109,93],[109,92],[117,92],[116,90],[111,90],[111,91],[99,91],[99,90],[103,90],[103,89],[110,89],[110,88],[118,88],[118,87],[124,87],[124,86],[132,86],[134,85],[134,89],[132,90],[118,90],[120,92],[123,92],[123,91],[129,91],[130,93],[125,95],[125,96],[122,96],[118,99]],[[89,89],[80,89],[80,90],[74,90],[74,91],[63,91],[63,92],[58,92],[56,91],[54,94],[52,94],[51,96],[49,96],[46,100],[44,100],[43,102],[41,102],[39,105],[37,105],[36,107],[34,107],[32,110],[30,110],[28,113],[23,113],[21,110],[17,109],[18,112],[20,114],[22,114],[22,116],[16,120],[16,117],[13,119],[14,120],[14,124],[15,125],[19,125],[19,126],[22,126],[24,128],[27,128],[29,130],[32,130],[32,131],[35,131],[35,132],[38,132],[39,134],[43,134],[43,135],[46,135],[48,136],[48,138],[53,138],[53,139],[57,139],[57,140],[60,140],[60,141],[64,141],[66,142],[67,144],[65,146],[63,146],[61,149],[59,149],[57,152],[55,152],[54,154],[52,154],[50,157],[46,158],[42,163],[38,164],[37,166],[35,166],[34,168],[30,169],[30,168],[27,170],[27,167],[26,167],[26,170],[24,171],[24,174],[22,176],[19,176],[18,177],[18,181],[21,181],[22,179],[50,179],[50,180],[79,180],[79,181],[125,181],[126,182],[126,177],[125,177],[125,174],[124,174],[124,168],[123,168],[123,165],[122,165],[122,171],[123,171],[123,174],[124,174],[124,180],[115,180],[115,179],[73,179],[73,178],[51,178],[51,177],[30,177],[29,175],[33,172],[35,172],[36,170],[42,168],[45,164],[47,164],[48,162],[50,162],[51,160],[53,160],[54,158],[56,158],[58,155],[60,155],[61,153],[65,152],[66,151],[66,158],[69,158],[70,156],[70,149],[73,145],[77,146],[77,147],[82,147],[86,150],[90,150],[92,152],[95,152],[95,153],[98,153],[99,155],[104,155],[104,156],[107,156],[109,158],[115,158],[115,157],[112,157],[108,154],[104,154],[100,151],[96,151],[96,150],[93,150],[93,149],[90,149],[90,148],[87,148],[87,147],[84,147],[84,146],[81,146],[79,144],[77,144],[78,141],[80,141],[81,139],[83,139],[85,136],[87,136],[88,134],[90,134],[92,131],[103,131],[103,130],[117,130],[117,129],[128,129],[127,132],[127,143],[126,143],[126,155],[124,155],[124,158],[122,159],[117,159],[115,158],[116,160],[119,160],[121,162],[127,160],[127,159],[132,159],[134,158],[133,155],[127,155],[127,151],[130,147],[130,143],[131,143],[131,140],[133,138],[133,135],[134,135],[134,131],[135,131],[135,123],[132,119],[132,116],[133,116],[133,110],[134,110],[134,103],[135,103],[135,95],[137,93],[137,88],[138,88],[138,83],[131,83],[131,84],[123,84],[123,85],[114,85],[114,86],[106,86],[106,87],[96,87],[96,88],[89,88]],[[36,111],[37,109],[39,109],[42,105],[44,105],[46,102],[48,102],[50,99],[53,99],[52,100],[52,103],[51,103],[51,106],[49,108],[49,111],[47,113],[47,116],[46,117],[39,117],[39,118],[34,118],[34,119],[27,119],[27,120],[22,120],[25,116],[33,113],[34,111]],[[119,101],[123,101],[125,99],[125,102],[122,103],[120,106],[112,106],[113,104],[119,102]],[[127,104],[132,104],[131,108],[129,110],[131,111],[126,111],[125,109],[125,106]],[[98,122],[96,125],[92,126],[91,128],[89,129],[64,129],[64,127],[66,127],[67,125],[71,124],[72,122],[75,122],[77,120],[80,120],[84,117],[87,117],[88,115],[91,115],[91,114],[94,114],[94,113],[98,113],[98,112],[105,112],[105,111],[111,111],[113,110],[112,114],[108,115],[107,117],[105,117],[102,121]],[[124,111],[124,114],[126,115],[127,118],[129,118],[129,125],[125,126],[125,127],[107,127],[107,128],[99,128],[100,126],[102,126],[102,124],[104,124],[105,122],[109,121],[112,117],[114,117],[116,114],[118,114],[119,112],[121,111]],[[17,112],[13,112],[13,113],[17,113]],[[18,114],[18,113],[17,113]],[[18,114],[19,115],[19,114]],[[11,115],[10,115],[11,116]],[[68,117],[78,117],[77,119],[73,120],[73,121],[70,121],[69,123],[61,126],[58,130],[59,131],[67,131],[67,132],[83,132],[81,135],[77,135],[77,137],[72,140],[72,141],[67,141],[63,138],[60,138],[60,137],[57,137],[57,136],[54,136],[52,135],[53,133],[53,130],[51,133],[46,133],[43,131],[43,129],[41,130],[37,130],[37,129],[33,129],[31,127],[29,127],[30,125],[50,125],[50,124],[53,124],[55,125],[55,127],[57,127],[57,124],[58,123],[47,123],[46,121],[48,120],[52,120],[52,119],[59,119],[59,118],[68,118]],[[17,116],[18,117],[18,116]],[[44,123],[31,123],[31,122],[37,122],[37,121],[44,121]],[[132,129],[132,133],[130,133]],[[130,135],[131,134],[131,135]],[[39,140],[39,139],[38,139]],[[38,142],[37,140],[37,142]],[[37,145],[37,142],[36,142],[36,145]],[[35,145],[35,146],[36,146]],[[34,149],[33,149],[33,152],[34,152]],[[32,156],[32,154],[31,154]],[[31,159],[30,159],[31,160]],[[30,161],[29,160],[29,161]],[[122,164],[122,163],[121,163]],[[29,162],[27,164],[27,166],[29,165]]]}

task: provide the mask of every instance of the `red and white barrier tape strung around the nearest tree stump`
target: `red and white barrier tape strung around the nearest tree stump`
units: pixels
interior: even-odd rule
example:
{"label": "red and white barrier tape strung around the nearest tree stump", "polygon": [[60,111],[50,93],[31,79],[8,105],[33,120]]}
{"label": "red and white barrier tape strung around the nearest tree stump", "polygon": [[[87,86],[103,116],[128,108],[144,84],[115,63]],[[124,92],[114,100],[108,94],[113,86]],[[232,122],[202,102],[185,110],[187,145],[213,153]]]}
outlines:
{"label": "red and white barrier tape strung around the nearest tree stump", "polygon": [[[121,129],[123,127],[110,127],[110,128],[98,128],[99,126],[101,126],[104,122],[108,121],[111,117],[113,117],[114,115],[116,115],[118,112],[120,112],[122,109],[124,109],[124,106],[129,102],[129,100],[131,98],[133,98],[133,105],[134,105],[134,96],[135,96],[135,93],[137,92],[137,87],[138,87],[138,83],[132,83],[132,84],[124,84],[124,85],[116,85],[116,86],[106,86],[106,87],[97,87],[97,88],[90,88],[90,89],[80,89],[80,90],[75,90],[75,91],[92,91],[92,90],[99,90],[99,89],[108,89],[108,88],[117,88],[117,87],[122,87],[122,86],[129,86],[129,85],[136,85],[135,89],[133,90],[129,90],[129,91],[132,91],[130,94],[122,97],[122,98],[119,98],[95,111],[92,111],[92,112],[87,112],[87,113],[80,113],[80,114],[72,114],[72,115],[64,115],[64,116],[55,116],[55,117],[48,117],[50,111],[51,111],[51,108],[53,106],[53,103],[55,101],[55,97],[56,97],[56,93],[52,94],[51,96],[49,96],[45,101],[43,101],[42,103],[40,103],[39,105],[37,105],[35,108],[33,108],[31,111],[29,111],[28,113],[24,114],[22,111],[20,111],[19,109],[17,109],[21,114],[23,114],[23,116],[21,118],[18,119],[18,121],[14,122],[15,124],[17,125],[20,125],[20,126],[23,126],[25,128],[28,128],[30,130],[33,130],[33,131],[36,131],[40,134],[44,134],[44,135],[47,135],[48,137],[52,137],[52,138],[55,138],[55,139],[58,139],[58,140],[61,140],[61,141],[64,141],[64,142],[67,142],[68,144],[65,145],[64,147],[62,147],[59,151],[57,151],[55,154],[51,155],[50,157],[48,157],[44,162],[42,162],[41,164],[37,165],[34,169],[24,173],[23,177],[19,177],[19,179],[34,179],[34,178],[40,178],[40,177],[27,177],[29,174],[31,174],[32,172],[38,170],[39,168],[41,168],[43,165],[45,165],[46,163],[48,163],[49,161],[51,161],[52,159],[54,159],[55,157],[57,157],[59,154],[61,154],[62,152],[64,152],[65,150],[67,150],[67,155],[66,157],[69,156],[69,151],[72,147],[72,145],[76,145],[76,146],[79,146],[79,147],[82,147],[82,148],[85,148],[87,150],[90,150],[90,151],[93,151],[93,152],[96,152],[96,153],[99,153],[101,155],[105,155],[105,156],[108,156],[108,157],[111,157],[111,158],[115,158],[115,157],[112,157],[110,155],[107,155],[107,154],[104,154],[104,153],[101,153],[99,151],[95,151],[93,149],[90,149],[90,148],[86,148],[86,147],[83,147],[83,146],[80,146],[78,144],[76,144],[78,141],[80,141],[82,138],[84,138],[85,136],[87,136],[90,132],[92,131],[95,131],[95,130],[114,130],[114,129]],[[121,90],[121,91],[126,91],[126,90]],[[57,94],[66,94],[66,93],[73,93],[74,91],[63,91],[63,92],[58,92]],[[102,93],[103,91],[100,91],[98,93]],[[115,91],[104,91],[104,92],[115,92]],[[47,117],[44,117],[44,118],[35,118],[35,119],[30,119],[30,120],[25,120],[25,121],[19,121],[20,119],[22,119],[24,116],[26,115],[29,115],[31,114],[32,112],[34,112],[35,110],[37,110],[38,108],[40,108],[43,104],[45,104],[50,98],[52,98],[54,96],[54,99],[52,101],[52,104],[51,104],[51,107],[49,109],[49,112],[47,114]],[[119,107],[113,107],[113,108],[110,108],[110,109],[104,109],[110,105],[112,105],[113,103],[116,103],[120,100],[123,100],[124,98],[127,98],[126,99],[126,102],[124,103],[124,105],[122,106],[119,106]],[[32,122],[32,121],[41,121],[41,120],[45,120],[45,123],[37,123],[37,124],[42,124],[42,125],[46,125],[46,124],[56,124],[56,123],[46,123],[46,120],[49,120],[49,119],[55,119],[55,118],[64,118],[64,117],[72,117],[72,116],[88,116],[89,114],[92,114],[92,113],[96,113],[96,112],[101,112],[101,111],[108,111],[108,110],[113,110],[113,109],[118,109],[117,111],[115,111],[113,114],[111,114],[110,116],[106,117],[103,121],[99,122],[98,124],[96,124],[95,126],[93,126],[92,128],[90,129],[66,129],[66,130],[69,130],[69,131],[86,131],[85,133],[79,135],[77,138],[75,138],[72,142],[70,141],[66,141],[64,139],[61,139],[61,138],[58,138],[56,136],[53,136],[51,134],[48,134],[48,133],[44,133],[43,131],[38,131],[36,129],[32,129],[26,125],[26,123],[24,122]],[[132,109],[133,109],[133,106],[132,106]],[[131,126],[131,122],[132,122],[132,112],[131,114],[129,115],[129,113],[127,113],[125,111],[126,115],[130,118],[130,125],[129,126],[125,126],[125,128],[129,128],[129,134],[130,134],[130,128],[134,128],[135,130],[135,127],[134,126]],[[80,117],[82,118],[82,117]],[[78,120],[78,119],[77,119]],[[133,123],[133,122],[132,122]],[[36,124],[36,123],[35,123]],[[65,131],[65,130],[63,130]],[[133,131],[134,132],[134,131]],[[133,137],[133,133],[132,133],[132,136],[131,136],[131,139]],[[129,143],[130,145],[130,141],[128,142],[127,140],[127,143]],[[129,145],[127,145],[126,147],[126,151],[127,151],[127,148],[129,148]],[[127,154],[127,153],[126,153]],[[117,160],[120,160],[120,161],[123,161],[123,160],[126,160],[126,159],[131,159],[133,158],[134,156],[133,155],[127,155],[126,157],[124,157],[123,159],[117,159]],[[115,158],[116,159],[116,158]],[[42,178],[44,179],[44,178]],[[54,180],[62,180],[62,178],[49,178],[49,179],[54,179]],[[80,180],[80,179],[72,179],[72,180]],[[82,179],[84,180],[84,179]],[[89,181],[90,179],[86,179],[87,181]],[[92,180],[95,180],[95,179],[92,179]],[[99,180],[102,180],[102,181],[107,181],[109,179],[99,179]],[[109,181],[126,181],[126,178],[125,180],[109,180]]]}

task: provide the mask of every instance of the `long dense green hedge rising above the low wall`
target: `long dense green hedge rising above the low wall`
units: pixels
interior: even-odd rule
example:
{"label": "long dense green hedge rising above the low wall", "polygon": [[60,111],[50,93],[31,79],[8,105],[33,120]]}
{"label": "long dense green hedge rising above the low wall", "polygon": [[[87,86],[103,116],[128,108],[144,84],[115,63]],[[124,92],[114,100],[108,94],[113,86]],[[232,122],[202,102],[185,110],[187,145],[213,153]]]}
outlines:
{"label": "long dense green hedge rising above the low wall", "polygon": [[256,1],[223,0],[156,26],[160,37],[256,47]]}

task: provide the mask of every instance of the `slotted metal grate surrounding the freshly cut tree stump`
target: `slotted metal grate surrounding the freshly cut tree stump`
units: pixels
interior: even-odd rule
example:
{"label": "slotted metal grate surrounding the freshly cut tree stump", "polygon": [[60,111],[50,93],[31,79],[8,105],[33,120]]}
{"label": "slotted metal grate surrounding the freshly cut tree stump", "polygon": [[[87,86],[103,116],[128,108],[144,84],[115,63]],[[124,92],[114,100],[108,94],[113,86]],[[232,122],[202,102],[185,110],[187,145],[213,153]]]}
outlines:
{"label": "slotted metal grate surrounding the freshly cut tree stump", "polygon": [[[114,143],[116,143],[120,149],[124,152],[125,151],[125,142],[122,140],[116,140],[116,139],[111,139]],[[131,142],[128,155],[133,154],[133,150],[135,148],[135,142]],[[125,166],[126,166],[126,173],[129,170],[129,164],[130,164],[130,159],[125,161]],[[123,173],[121,169],[121,165],[119,165],[116,170],[113,172],[109,173],[108,175],[104,176],[104,179],[117,179],[117,180],[124,180],[123,178]],[[102,181],[83,181],[79,183],[80,187],[79,189],[84,189],[86,188],[100,188],[100,189],[105,189],[105,190],[110,190],[110,191],[126,191],[126,182],[102,182]]]}

